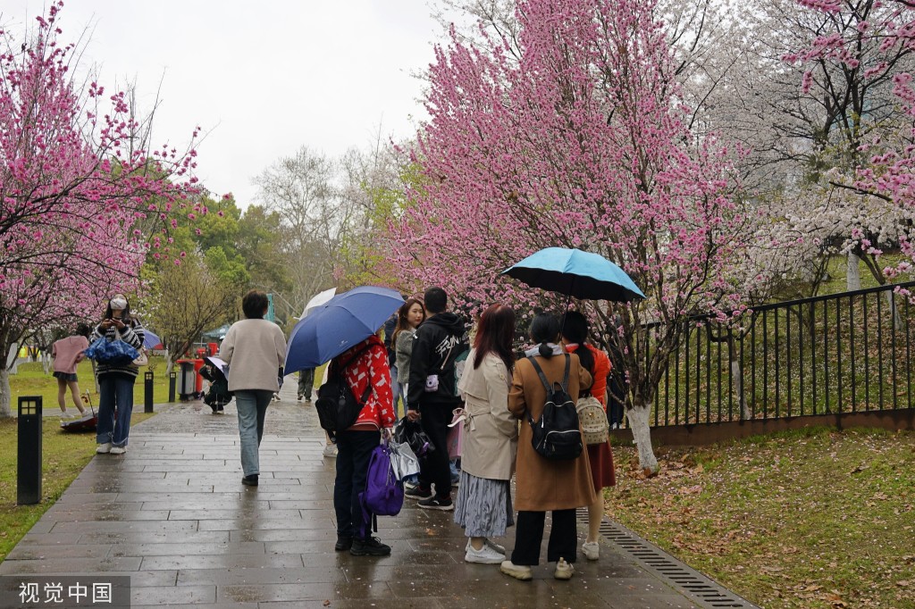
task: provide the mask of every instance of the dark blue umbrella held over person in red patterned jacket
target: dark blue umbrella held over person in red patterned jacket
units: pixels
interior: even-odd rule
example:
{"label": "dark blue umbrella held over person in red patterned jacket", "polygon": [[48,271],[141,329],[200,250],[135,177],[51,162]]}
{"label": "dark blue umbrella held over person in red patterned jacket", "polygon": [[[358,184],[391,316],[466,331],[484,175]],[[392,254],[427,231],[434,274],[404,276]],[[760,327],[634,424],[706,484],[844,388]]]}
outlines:
{"label": "dark blue umbrella held over person in red patterned jacket", "polygon": [[404,304],[394,290],[364,285],[337,294],[299,321],[286,345],[284,372],[317,368],[378,331]]}

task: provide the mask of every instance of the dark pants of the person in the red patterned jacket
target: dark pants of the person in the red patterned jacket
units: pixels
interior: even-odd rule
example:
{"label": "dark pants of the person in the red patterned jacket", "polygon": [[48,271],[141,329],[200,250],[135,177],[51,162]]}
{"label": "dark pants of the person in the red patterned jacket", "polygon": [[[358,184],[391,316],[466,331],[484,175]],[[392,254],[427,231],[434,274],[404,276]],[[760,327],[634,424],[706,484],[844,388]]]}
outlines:
{"label": "dark pants of the person in the red patterned jacket", "polygon": [[[378,432],[337,433],[337,478],[334,480],[334,511],[338,537],[368,537],[369,528],[362,515],[359,494],[365,490],[369,459],[381,441]],[[365,525],[365,535],[362,526]]]}

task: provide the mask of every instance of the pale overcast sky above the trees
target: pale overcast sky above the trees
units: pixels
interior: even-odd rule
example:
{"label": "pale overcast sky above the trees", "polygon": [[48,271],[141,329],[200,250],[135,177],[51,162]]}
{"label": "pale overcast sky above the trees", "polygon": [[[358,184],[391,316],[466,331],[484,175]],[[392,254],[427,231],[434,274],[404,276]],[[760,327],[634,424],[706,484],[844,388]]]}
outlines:
{"label": "pale overcast sky above the trees", "polygon": [[[0,23],[21,39],[45,6],[0,0]],[[164,79],[154,144],[184,144],[199,124],[199,178],[246,208],[253,176],[303,144],[339,155],[379,126],[414,134],[414,75],[442,33],[430,13],[426,0],[67,0],[58,23],[65,42],[91,28],[82,64],[108,91],[136,80],[141,109]]]}

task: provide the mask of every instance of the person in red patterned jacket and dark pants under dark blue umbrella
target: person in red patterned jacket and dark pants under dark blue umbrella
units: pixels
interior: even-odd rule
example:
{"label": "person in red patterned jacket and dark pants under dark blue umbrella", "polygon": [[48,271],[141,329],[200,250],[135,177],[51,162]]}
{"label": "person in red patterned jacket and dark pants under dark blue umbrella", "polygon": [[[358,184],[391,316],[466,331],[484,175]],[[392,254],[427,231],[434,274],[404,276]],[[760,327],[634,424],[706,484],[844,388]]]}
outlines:
{"label": "person in red patterned jacket and dark pants under dark blue umbrella", "polygon": [[[364,522],[359,494],[365,490],[371,452],[381,441],[381,430],[390,433],[394,424],[391,369],[382,339],[372,335],[330,361],[331,370],[344,370],[353,396],[368,395],[353,425],[337,433],[337,478],[334,480],[334,510],[337,512],[337,545],[354,556],[387,556],[391,547],[371,537]],[[364,531],[364,532],[363,532]]]}

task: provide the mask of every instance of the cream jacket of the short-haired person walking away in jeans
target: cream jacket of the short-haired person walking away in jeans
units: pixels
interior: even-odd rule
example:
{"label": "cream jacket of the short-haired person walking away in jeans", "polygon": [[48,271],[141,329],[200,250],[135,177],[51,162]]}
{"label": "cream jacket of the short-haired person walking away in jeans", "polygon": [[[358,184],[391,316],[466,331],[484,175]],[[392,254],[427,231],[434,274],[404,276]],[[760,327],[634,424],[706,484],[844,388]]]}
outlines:
{"label": "cream jacket of the short-haired person walking away in jeans", "polygon": [[220,358],[229,364],[229,390],[280,390],[279,368],[285,362],[285,336],[266,319],[242,319],[226,333]]}

